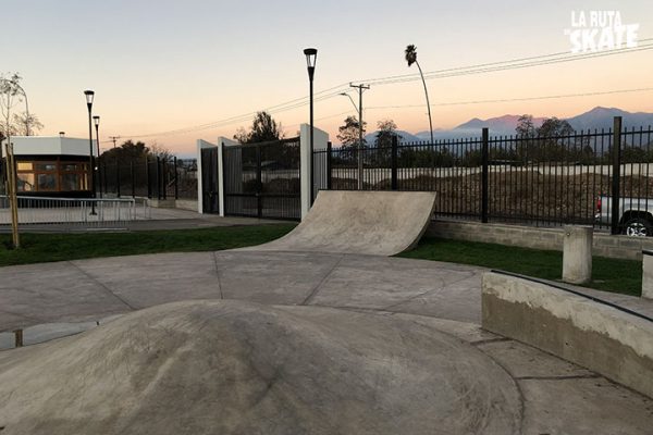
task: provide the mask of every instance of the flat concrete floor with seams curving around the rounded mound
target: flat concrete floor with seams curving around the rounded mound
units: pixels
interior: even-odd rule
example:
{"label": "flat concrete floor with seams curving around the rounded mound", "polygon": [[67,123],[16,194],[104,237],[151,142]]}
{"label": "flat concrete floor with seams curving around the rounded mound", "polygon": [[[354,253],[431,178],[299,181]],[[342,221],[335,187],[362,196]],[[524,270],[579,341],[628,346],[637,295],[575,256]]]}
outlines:
{"label": "flat concrete floor with seams curving around the rounded mound", "polygon": [[[329,310],[338,312],[336,316],[353,334],[356,322],[387,322],[387,327],[403,325],[397,331],[404,333],[393,340],[409,340],[415,332],[409,325],[448,336],[459,344],[454,366],[467,368],[465,352],[477,358],[480,351],[485,362],[476,365],[473,376],[495,378],[483,366],[497,365],[507,375],[498,377],[502,388],[515,395],[508,402],[516,423],[502,434],[650,434],[653,400],[483,332],[479,326],[482,273],[480,268],[402,258],[274,251],[167,253],[10,266],[0,269],[0,331],[54,322],[110,326],[103,319],[188,299],[256,302],[301,310],[306,315]],[[93,331],[99,333],[101,327]],[[11,363],[13,352],[36,355],[37,350],[2,351],[0,361]],[[435,393],[424,388],[426,394]],[[504,412],[485,405],[488,412]]]}

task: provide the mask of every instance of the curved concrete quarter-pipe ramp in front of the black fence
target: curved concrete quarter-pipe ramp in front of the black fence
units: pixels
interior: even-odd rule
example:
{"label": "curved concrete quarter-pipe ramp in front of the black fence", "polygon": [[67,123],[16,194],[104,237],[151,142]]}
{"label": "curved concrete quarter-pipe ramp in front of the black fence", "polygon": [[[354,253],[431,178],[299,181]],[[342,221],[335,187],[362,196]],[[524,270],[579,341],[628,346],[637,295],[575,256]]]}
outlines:
{"label": "curved concrete quarter-pipe ramp in front of the black fence", "polygon": [[321,190],[294,231],[247,249],[394,256],[419,241],[434,207],[431,191]]}

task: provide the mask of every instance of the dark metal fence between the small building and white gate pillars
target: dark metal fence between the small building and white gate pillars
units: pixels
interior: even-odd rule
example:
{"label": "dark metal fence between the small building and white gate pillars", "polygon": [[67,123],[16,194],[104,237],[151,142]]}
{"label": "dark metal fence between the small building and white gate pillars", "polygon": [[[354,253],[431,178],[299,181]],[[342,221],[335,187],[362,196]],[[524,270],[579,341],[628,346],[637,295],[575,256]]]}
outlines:
{"label": "dark metal fence between the small building and white gate pillars", "polygon": [[197,164],[194,160],[135,158],[99,159],[98,194],[115,197],[197,199]]}

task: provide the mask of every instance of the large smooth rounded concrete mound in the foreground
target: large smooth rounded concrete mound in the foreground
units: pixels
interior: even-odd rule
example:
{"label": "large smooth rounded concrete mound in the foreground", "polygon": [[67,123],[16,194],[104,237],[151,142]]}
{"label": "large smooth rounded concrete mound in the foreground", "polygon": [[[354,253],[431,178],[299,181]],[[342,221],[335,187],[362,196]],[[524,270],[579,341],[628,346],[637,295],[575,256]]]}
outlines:
{"label": "large smooth rounded concrete mound in the foreground", "polygon": [[512,378],[389,315],[158,306],[0,352],[5,434],[516,434]]}

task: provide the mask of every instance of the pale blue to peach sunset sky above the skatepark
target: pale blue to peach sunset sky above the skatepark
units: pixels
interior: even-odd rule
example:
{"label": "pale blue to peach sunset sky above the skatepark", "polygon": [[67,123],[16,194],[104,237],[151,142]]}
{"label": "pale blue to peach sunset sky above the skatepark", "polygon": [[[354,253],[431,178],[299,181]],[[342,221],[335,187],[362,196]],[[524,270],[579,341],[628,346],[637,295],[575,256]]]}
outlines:
{"label": "pale blue to peach sunset sky above the skatepark", "polygon": [[[420,80],[378,83],[418,73],[404,61],[409,44],[424,73],[570,52],[571,11],[604,10],[619,11],[623,24],[639,24],[640,46],[653,38],[650,0],[13,0],[2,8],[0,72],[23,76],[30,111],[45,124],[41,135],[86,137],[83,91],[94,89],[102,148],[109,136],[121,136],[187,157],[196,139],[231,137],[259,110],[270,109],[294,136],[308,122],[303,49],[316,47],[315,90],[325,97],[316,102],[316,126],[336,142],[337,126],[354,114],[337,95],[349,82],[371,82],[364,95],[369,130],[385,119],[411,133],[428,129]],[[653,88],[652,72],[653,50],[642,50],[432,78],[433,127],[507,113],[565,117],[595,105],[653,112],[652,90],[449,104]],[[295,108],[274,109],[294,100]]]}

